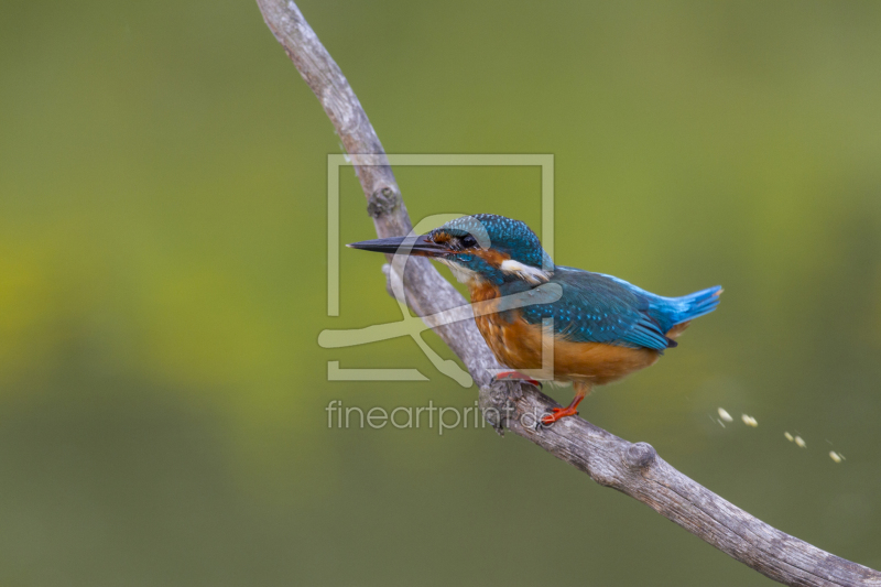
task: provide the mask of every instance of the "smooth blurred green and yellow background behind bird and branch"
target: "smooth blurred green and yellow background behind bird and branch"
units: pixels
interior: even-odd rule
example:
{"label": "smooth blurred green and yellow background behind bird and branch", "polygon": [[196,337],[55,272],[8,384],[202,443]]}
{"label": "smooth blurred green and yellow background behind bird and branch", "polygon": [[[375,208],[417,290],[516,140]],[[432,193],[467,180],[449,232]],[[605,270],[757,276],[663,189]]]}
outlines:
{"label": "smooth blurred green and yellow background behind bird and branch", "polygon": [[[557,262],[725,285],[584,415],[881,567],[881,3],[301,8],[390,153],[553,153]],[[318,347],[400,318],[345,249],[325,316],[339,152],[253,2],[4,0],[0,585],[770,584],[515,436],[328,430],[476,399],[412,340]],[[535,167],[396,174],[414,221],[541,227]],[[342,242],[365,207],[344,170]]]}

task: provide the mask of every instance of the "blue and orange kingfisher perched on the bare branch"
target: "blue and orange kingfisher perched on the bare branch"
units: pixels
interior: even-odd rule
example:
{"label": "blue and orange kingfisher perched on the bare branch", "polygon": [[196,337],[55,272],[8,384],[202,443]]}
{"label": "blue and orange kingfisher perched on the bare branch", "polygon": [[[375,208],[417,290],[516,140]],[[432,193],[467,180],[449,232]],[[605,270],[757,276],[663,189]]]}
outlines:
{"label": "blue and orange kingfisher perched on the bare branch", "polygon": [[456,218],[415,241],[395,237],[349,247],[396,253],[402,244],[402,252],[410,247],[410,254],[449,267],[467,284],[471,303],[493,303],[545,283],[559,285],[555,302],[475,317],[496,358],[511,369],[500,379],[530,379],[520,370],[542,366],[543,320],[553,318],[553,380],[572,382],[575,396],[543,416],[545,425],[577,414],[595,385],[654,365],[664,350],[677,346],[690,320],[716,309],[722,293],[717,285],[663,297],[612,275],[556,265],[524,222],[493,214]]}

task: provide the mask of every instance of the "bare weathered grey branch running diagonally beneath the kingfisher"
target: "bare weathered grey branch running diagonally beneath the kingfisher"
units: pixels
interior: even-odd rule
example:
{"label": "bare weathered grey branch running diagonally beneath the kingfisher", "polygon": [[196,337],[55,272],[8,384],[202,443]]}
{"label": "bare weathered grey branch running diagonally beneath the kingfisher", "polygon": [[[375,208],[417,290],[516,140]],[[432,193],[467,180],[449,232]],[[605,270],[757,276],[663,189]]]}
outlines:
{"label": "bare weathered grey branch running diagonally beneath the kingfisher", "polygon": [[[394,174],[342,72],[293,1],[257,0],[257,3],[352,157],[377,235],[407,235],[412,225]],[[380,164],[359,165],[367,156],[371,163]],[[420,316],[466,303],[425,259],[410,260],[404,289],[409,305]],[[485,415],[499,431],[508,427],[585,471],[596,482],[645,503],[772,579],[798,586],[881,587],[881,573],[768,525],[674,469],[645,443],[629,443],[577,417],[561,420],[551,427],[536,427],[536,418],[558,404],[532,385],[493,382],[488,370],[501,366],[474,320],[439,326],[435,331],[471,373],[480,388]]]}

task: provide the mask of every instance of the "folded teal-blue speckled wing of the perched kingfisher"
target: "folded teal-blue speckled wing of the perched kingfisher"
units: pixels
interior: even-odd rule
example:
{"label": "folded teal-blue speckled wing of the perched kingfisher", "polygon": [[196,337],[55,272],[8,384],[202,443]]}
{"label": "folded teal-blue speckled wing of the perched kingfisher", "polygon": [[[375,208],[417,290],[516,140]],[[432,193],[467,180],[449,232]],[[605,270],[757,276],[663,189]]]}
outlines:
{"label": "folded teal-blue speckled wing of the perched kingfisher", "polygon": [[522,308],[523,318],[541,324],[554,318],[554,331],[579,343],[603,343],[663,350],[674,346],[650,314],[650,298],[626,282],[557,265],[552,282],[563,296],[552,304]]}

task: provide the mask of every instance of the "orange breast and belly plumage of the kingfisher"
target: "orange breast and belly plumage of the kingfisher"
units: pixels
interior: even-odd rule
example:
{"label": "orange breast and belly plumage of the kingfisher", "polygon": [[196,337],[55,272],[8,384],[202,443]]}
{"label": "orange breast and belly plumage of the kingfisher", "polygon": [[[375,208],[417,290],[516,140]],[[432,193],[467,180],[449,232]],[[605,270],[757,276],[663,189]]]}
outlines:
{"label": "orange breast and belly plumage of the kingfisher", "polygon": [[[470,287],[472,302],[490,302],[498,291],[487,285]],[[510,369],[542,368],[542,327],[530,324],[520,311],[477,316],[477,328],[496,358]],[[554,379],[605,384],[653,365],[660,354],[602,343],[578,343],[548,333],[554,341]]]}

